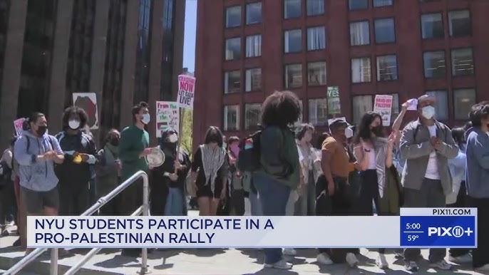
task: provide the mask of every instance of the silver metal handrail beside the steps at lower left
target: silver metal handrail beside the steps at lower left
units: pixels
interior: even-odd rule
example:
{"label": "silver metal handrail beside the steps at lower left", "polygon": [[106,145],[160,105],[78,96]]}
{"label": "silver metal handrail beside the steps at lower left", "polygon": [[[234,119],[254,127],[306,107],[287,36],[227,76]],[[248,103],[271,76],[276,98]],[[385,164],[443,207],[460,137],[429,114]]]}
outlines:
{"label": "silver metal handrail beside the steps at lower left", "polygon": [[[125,180],[122,184],[120,184],[117,188],[112,190],[112,192],[105,195],[105,197],[101,197],[98,201],[93,204],[92,207],[88,208],[86,212],[83,212],[80,216],[90,216],[91,214],[101,209],[104,204],[106,204],[110,199],[113,199],[120,192],[123,192],[127,187],[132,185],[136,180],[140,177],[143,178],[143,205],[141,205],[131,216],[138,216],[139,214],[143,214],[143,216],[149,215],[149,181],[148,175],[143,171],[138,171],[134,175],[132,175],[128,180]],[[47,248],[37,248],[34,249],[29,255],[24,256],[19,262],[17,262],[14,266],[12,266],[9,270],[5,271],[3,275],[14,275],[17,274],[21,269],[34,261],[38,256],[46,251]],[[81,267],[87,263],[93,256],[95,256],[98,251],[101,249],[92,249],[81,261],[78,262],[75,266],[72,266],[66,274],[75,274],[76,271],[80,270]],[[140,274],[148,273],[148,249],[143,248],[141,251],[141,270]],[[58,275],[58,249],[51,249],[51,275]]]}

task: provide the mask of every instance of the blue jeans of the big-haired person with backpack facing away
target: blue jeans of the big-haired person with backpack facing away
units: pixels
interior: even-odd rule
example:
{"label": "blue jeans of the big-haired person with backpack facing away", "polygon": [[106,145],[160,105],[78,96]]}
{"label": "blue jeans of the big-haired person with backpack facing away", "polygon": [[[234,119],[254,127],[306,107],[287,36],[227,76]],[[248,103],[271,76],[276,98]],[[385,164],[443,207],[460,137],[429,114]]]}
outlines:
{"label": "blue jeans of the big-haired person with backpack facing away", "polygon": [[[290,187],[267,175],[253,175],[253,184],[257,188],[264,216],[285,216],[289,200]],[[275,264],[282,260],[282,249],[264,249],[265,264]]]}

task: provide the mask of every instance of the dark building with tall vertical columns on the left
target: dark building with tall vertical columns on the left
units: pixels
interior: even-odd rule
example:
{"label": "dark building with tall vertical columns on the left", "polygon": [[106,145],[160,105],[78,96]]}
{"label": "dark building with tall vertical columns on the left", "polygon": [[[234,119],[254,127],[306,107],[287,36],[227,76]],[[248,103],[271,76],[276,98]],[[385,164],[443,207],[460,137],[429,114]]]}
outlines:
{"label": "dark building with tall vertical columns on the left", "polygon": [[98,140],[141,100],[154,118],[176,98],[184,20],[178,0],[0,0],[0,145],[33,111],[57,133],[72,93],[96,93]]}

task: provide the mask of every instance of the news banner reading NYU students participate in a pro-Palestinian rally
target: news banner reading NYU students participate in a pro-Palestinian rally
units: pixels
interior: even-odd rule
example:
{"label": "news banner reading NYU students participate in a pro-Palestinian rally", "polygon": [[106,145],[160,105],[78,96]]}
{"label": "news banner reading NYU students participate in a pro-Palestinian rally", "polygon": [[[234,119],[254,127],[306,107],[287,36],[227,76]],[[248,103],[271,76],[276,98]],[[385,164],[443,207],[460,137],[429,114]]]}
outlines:
{"label": "news banner reading NYU students participate in a pro-Palestinian rally", "polygon": [[28,217],[31,248],[451,247],[477,244],[475,208],[400,216]]}

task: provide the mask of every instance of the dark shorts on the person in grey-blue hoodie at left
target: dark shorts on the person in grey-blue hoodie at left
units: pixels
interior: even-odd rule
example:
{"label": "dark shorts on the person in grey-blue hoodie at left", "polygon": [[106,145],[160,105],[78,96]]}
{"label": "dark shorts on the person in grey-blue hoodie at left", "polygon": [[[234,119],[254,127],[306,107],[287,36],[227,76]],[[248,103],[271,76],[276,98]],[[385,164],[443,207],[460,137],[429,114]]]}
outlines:
{"label": "dark shorts on the person in grey-blue hoodie at left", "polygon": [[21,192],[28,214],[43,214],[44,207],[59,208],[58,186],[49,191],[34,191],[21,186]]}

